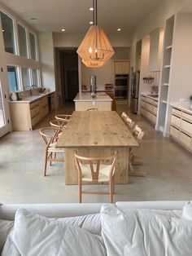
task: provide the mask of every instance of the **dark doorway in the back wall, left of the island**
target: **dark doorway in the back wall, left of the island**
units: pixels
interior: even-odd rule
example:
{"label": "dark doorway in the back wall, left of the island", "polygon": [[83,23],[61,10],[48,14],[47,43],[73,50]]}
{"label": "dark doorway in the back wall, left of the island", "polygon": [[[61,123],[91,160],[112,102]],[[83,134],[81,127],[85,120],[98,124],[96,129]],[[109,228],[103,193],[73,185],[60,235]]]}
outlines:
{"label": "dark doorway in the back wall, left of the island", "polygon": [[79,92],[78,55],[76,48],[56,48],[56,73],[60,85],[59,102],[72,101]]}

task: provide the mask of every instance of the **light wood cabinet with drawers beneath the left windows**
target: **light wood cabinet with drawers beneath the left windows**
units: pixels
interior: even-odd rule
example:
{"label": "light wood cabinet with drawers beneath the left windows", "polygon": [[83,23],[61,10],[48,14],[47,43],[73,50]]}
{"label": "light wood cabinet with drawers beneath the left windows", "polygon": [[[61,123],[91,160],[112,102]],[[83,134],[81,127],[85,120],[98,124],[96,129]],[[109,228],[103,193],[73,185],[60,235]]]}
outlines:
{"label": "light wood cabinet with drawers beneath the left windows", "polygon": [[[50,94],[51,109],[55,109],[55,92]],[[44,95],[33,102],[10,102],[11,125],[13,130],[33,130],[49,113],[48,95]]]}

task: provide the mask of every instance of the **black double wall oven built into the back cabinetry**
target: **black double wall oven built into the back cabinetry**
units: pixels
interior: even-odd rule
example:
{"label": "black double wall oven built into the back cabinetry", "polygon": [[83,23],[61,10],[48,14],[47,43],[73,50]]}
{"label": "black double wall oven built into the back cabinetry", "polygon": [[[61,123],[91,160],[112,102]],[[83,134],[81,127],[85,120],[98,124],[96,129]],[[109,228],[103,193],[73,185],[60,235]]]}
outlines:
{"label": "black double wall oven built into the back cabinetry", "polygon": [[129,75],[116,75],[115,97],[116,99],[128,99]]}

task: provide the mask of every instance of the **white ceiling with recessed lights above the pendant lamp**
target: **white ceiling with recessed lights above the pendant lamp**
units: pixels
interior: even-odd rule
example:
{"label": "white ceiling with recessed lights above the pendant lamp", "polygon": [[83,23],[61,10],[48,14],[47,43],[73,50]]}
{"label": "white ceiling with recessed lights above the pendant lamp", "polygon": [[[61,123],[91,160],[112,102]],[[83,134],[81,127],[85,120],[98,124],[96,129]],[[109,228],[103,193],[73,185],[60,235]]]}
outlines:
{"label": "white ceiling with recessed lights above the pendant lamp", "polygon": [[[40,32],[85,33],[92,0],[0,0]],[[107,33],[131,33],[160,0],[98,0],[98,25]],[[31,20],[36,18],[37,20]]]}

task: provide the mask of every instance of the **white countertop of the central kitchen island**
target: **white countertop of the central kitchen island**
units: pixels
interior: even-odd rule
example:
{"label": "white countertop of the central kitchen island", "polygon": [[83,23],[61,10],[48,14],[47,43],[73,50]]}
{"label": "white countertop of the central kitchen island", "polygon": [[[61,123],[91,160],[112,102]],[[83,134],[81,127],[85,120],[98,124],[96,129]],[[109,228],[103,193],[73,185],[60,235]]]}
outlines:
{"label": "white countertop of the central kitchen island", "polygon": [[81,92],[76,95],[74,101],[112,101],[111,97],[105,92],[96,93],[96,97],[92,98],[90,93]]}

